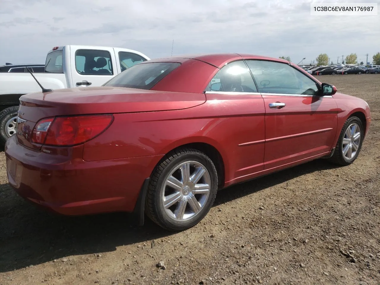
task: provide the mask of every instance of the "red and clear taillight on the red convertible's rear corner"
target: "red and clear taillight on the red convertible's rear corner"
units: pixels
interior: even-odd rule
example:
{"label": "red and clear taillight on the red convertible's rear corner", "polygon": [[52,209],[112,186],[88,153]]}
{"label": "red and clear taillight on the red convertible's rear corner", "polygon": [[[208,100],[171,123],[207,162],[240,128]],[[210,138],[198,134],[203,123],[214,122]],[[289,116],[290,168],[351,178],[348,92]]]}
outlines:
{"label": "red and clear taillight on the red convertible's rear corner", "polygon": [[[106,130],[111,124],[112,119],[112,115],[87,115],[44,119],[38,122],[35,130],[33,130],[32,142],[52,146],[80,144]],[[41,133],[38,128],[48,121],[50,123],[45,133]],[[46,125],[42,125],[40,128],[43,128],[43,126]]]}

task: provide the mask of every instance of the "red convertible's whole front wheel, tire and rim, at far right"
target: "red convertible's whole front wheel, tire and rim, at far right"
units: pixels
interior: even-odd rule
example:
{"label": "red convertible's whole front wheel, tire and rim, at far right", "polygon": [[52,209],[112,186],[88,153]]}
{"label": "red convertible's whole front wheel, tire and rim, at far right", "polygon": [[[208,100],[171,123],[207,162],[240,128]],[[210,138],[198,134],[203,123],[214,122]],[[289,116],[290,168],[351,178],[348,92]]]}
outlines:
{"label": "red convertible's whole front wheel, tire and rim, at far right", "polygon": [[358,157],[363,143],[364,129],[358,117],[346,120],[340,132],[334,155],[330,161],[339,165],[349,165]]}

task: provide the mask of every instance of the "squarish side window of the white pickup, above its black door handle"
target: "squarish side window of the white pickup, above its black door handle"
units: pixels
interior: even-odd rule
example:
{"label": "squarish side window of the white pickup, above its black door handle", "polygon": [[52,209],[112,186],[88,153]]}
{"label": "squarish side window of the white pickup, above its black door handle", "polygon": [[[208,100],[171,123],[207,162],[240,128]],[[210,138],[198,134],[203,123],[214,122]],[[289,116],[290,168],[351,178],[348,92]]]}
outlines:
{"label": "squarish side window of the white pickup, above its black door handle", "polygon": [[97,49],[78,49],[75,68],[82,75],[113,75],[111,55]]}

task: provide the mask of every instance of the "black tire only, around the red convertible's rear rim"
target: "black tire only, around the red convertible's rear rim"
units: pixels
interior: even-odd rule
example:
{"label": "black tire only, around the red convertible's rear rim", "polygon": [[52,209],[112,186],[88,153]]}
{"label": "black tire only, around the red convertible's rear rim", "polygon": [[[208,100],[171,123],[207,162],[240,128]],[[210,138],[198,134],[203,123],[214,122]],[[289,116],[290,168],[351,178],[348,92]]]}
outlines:
{"label": "black tire only, around the red convertible's rear rim", "polygon": [[[185,161],[196,161],[201,163],[208,171],[210,176],[210,193],[204,203],[204,206],[195,215],[185,221],[177,221],[171,218],[163,207],[161,195],[163,192],[163,185],[166,177]],[[218,185],[218,175],[214,163],[207,155],[196,149],[180,148],[167,154],[161,162],[155,167],[152,175],[150,176],[149,186],[145,201],[145,212],[147,216],[157,225],[169,231],[182,231],[195,226],[199,223],[209,212],[214,204]]]}

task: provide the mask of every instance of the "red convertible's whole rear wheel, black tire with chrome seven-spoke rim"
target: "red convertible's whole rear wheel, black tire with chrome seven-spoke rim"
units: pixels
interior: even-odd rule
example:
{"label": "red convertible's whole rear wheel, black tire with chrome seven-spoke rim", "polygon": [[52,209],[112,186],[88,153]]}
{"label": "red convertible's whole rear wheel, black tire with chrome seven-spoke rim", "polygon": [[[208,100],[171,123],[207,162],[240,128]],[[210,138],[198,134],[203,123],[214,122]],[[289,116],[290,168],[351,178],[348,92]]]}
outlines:
{"label": "red convertible's whole rear wheel, black tire with chrome seven-spoke rim", "polygon": [[152,173],[146,214],[166,230],[191,228],[211,209],[217,185],[217,171],[207,155],[195,149],[175,150]]}

